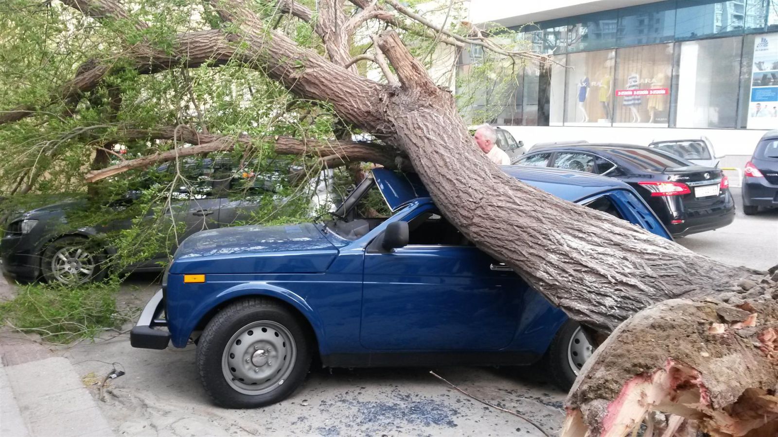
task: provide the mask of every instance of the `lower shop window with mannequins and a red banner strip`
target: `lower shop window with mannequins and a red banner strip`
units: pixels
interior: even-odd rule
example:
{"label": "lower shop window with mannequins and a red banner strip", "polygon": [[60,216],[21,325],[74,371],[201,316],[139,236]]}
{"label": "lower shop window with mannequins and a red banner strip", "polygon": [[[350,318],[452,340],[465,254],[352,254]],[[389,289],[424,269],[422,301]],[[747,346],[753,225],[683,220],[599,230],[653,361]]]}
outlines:
{"label": "lower shop window with mannequins and a red banner strip", "polygon": [[673,45],[616,51],[614,123],[668,126]]}

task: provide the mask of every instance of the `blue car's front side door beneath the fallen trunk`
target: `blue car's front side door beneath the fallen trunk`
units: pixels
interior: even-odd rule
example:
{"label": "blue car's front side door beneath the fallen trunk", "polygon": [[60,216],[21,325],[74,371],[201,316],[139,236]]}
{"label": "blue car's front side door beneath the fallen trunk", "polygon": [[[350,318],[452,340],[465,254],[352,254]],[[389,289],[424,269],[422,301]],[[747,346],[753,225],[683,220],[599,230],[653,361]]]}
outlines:
{"label": "blue car's front side door beneath the fallen trunk", "polygon": [[475,246],[439,233],[415,229],[408,246],[366,250],[365,348],[496,350],[513,340],[527,285]]}

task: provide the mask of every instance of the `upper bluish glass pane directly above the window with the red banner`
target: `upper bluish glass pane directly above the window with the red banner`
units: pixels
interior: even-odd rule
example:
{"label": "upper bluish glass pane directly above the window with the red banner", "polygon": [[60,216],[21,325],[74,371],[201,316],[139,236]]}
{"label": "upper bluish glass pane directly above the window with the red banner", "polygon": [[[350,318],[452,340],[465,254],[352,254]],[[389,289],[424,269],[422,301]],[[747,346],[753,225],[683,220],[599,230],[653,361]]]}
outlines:
{"label": "upper bluish glass pane directly above the window with the red banner", "polygon": [[675,2],[640,5],[619,11],[616,44],[619,47],[657,44],[673,40]]}

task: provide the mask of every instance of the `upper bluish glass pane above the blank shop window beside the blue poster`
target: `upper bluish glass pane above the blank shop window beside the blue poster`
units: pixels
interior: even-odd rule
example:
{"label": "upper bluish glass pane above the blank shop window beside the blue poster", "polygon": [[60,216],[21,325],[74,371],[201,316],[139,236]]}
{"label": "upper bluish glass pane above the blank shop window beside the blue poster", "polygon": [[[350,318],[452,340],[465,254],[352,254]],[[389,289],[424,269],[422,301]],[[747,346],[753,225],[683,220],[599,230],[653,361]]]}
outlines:
{"label": "upper bluish glass pane above the blank shop window beside the blue poster", "polygon": [[742,33],[745,26],[746,0],[678,0],[675,12],[675,39]]}

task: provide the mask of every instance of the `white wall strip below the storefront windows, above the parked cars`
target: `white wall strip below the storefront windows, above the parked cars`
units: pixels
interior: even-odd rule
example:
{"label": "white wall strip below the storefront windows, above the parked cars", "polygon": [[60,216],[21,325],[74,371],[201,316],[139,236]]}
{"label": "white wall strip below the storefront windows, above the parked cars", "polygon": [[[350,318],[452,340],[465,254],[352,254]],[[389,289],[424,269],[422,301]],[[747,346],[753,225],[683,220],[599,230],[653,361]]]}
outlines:
{"label": "white wall strip below the storefront windows, above the parked cars", "polygon": [[710,138],[718,155],[751,156],[766,131],[746,129],[598,128],[577,126],[501,126],[527,148],[538,142],[586,140],[648,145],[653,141]]}

